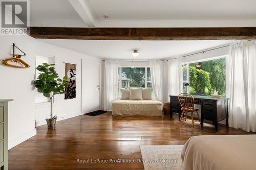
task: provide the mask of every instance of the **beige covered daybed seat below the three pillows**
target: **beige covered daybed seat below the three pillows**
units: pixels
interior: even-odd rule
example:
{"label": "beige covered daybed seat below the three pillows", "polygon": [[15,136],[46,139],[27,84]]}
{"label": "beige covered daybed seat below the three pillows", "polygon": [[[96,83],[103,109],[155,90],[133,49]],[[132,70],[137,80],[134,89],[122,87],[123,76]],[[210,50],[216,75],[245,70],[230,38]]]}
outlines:
{"label": "beige covered daybed seat below the three pillows", "polygon": [[157,100],[115,100],[114,116],[162,116],[162,103]]}

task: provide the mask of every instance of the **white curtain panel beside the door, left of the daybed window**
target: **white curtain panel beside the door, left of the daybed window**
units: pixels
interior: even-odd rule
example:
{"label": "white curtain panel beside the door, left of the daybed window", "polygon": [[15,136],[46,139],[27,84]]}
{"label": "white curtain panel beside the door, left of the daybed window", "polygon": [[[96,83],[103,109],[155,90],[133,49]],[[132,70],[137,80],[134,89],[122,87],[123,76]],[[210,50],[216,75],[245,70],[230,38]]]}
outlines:
{"label": "white curtain panel beside the door, left of the daybed window", "polygon": [[118,61],[105,60],[104,63],[104,110],[111,111],[118,88]]}

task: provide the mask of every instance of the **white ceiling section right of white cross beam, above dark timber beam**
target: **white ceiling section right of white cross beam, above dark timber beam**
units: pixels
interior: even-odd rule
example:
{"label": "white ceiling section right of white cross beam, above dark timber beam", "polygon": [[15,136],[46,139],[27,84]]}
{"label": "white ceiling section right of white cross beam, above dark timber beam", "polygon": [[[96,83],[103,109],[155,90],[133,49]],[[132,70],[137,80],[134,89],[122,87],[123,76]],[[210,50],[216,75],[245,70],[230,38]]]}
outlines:
{"label": "white ceiling section right of white cross beam, above dark timber beam", "polygon": [[255,0],[84,0],[96,20],[256,19]]}

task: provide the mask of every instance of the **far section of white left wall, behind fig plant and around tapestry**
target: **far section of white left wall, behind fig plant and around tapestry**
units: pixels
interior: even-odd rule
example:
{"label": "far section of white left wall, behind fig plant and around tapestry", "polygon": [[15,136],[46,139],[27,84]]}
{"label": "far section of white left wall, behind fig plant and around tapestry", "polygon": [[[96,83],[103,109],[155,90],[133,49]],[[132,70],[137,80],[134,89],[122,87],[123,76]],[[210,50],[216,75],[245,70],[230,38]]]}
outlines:
{"label": "far section of white left wall, behind fig plant and around tapestry", "polygon": [[[76,66],[76,99],[64,100],[64,94],[54,96],[53,116],[57,115],[57,120],[81,115],[81,60],[101,63],[102,59],[77,53],[66,48],[50,45],[43,42],[36,42],[36,53],[40,55],[55,56],[55,68],[60,78],[65,76],[65,63],[77,64]],[[36,126],[45,125],[45,118],[50,117],[50,104],[36,104],[35,119]]]}

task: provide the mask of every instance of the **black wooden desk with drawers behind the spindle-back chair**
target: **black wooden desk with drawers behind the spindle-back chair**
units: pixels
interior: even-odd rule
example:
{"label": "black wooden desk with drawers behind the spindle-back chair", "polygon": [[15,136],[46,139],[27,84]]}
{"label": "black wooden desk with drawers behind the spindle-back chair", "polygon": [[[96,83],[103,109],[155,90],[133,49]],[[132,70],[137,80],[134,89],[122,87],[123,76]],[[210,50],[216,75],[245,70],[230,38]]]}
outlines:
{"label": "black wooden desk with drawers behind the spindle-back chair", "polygon": [[[169,95],[170,97],[170,118],[173,112],[179,113],[179,119],[182,113],[181,106],[178,100],[178,95]],[[215,125],[215,130],[218,130],[218,122],[226,119],[226,126],[228,127],[228,99],[227,98],[211,98],[208,96],[193,96],[195,104],[201,105],[201,129],[204,128],[204,119],[210,120]],[[224,102],[224,113],[217,107]]]}

